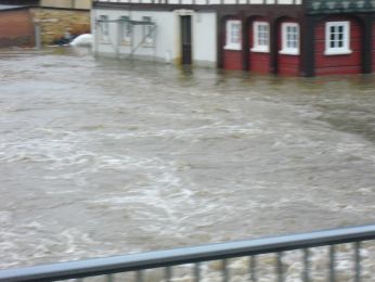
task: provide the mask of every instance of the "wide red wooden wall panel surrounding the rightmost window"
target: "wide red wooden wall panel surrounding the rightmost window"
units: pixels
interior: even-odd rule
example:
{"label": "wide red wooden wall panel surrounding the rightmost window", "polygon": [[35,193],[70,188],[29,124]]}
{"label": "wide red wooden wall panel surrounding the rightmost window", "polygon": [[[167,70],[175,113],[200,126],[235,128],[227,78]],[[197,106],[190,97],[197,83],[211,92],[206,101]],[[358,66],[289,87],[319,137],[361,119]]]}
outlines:
{"label": "wide red wooden wall panel surrounding the rightmost window", "polygon": [[[325,23],[331,21],[350,21],[350,49],[351,54],[324,55]],[[361,26],[350,17],[335,16],[320,23],[315,27],[315,75],[345,75],[360,74],[362,70]]]}

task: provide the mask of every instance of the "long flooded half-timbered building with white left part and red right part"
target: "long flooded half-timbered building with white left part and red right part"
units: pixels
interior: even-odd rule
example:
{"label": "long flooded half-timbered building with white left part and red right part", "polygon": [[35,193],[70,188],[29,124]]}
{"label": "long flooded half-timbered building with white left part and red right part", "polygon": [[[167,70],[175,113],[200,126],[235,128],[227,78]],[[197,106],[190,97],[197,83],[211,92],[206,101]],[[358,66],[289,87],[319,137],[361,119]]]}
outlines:
{"label": "long flooded half-timbered building with white left part and red right part", "polygon": [[94,0],[99,55],[315,76],[375,69],[373,0]]}

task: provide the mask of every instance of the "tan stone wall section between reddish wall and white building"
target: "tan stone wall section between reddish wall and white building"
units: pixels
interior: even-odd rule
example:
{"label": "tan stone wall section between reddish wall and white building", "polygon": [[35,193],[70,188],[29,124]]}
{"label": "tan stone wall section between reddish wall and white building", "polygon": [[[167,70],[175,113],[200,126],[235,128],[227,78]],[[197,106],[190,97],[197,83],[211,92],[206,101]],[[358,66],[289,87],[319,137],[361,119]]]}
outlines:
{"label": "tan stone wall section between reddish wall and white building", "polygon": [[38,22],[41,28],[43,44],[52,44],[64,37],[66,30],[70,35],[90,33],[90,11],[64,10],[64,9],[30,9],[34,22]]}

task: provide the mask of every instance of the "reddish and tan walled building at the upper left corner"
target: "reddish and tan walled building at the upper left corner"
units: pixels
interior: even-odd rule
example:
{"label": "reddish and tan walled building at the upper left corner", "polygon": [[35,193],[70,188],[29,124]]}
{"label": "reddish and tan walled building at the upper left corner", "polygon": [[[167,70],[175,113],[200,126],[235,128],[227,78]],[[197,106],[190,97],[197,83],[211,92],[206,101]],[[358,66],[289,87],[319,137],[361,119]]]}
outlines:
{"label": "reddish and tan walled building at the upper left corner", "polygon": [[90,9],[91,0],[0,0],[0,47],[56,44],[66,35],[88,34]]}

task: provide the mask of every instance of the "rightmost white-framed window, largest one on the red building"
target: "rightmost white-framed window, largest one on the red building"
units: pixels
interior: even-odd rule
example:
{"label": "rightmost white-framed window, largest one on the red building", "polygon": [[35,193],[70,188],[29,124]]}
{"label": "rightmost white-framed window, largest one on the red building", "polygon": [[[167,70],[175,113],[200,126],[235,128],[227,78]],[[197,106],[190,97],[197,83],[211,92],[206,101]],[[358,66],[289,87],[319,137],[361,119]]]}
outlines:
{"label": "rightmost white-framed window, largest one on the red building", "polygon": [[350,54],[349,22],[325,24],[325,55]]}

